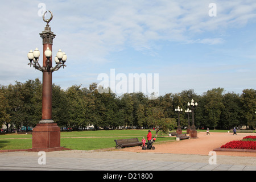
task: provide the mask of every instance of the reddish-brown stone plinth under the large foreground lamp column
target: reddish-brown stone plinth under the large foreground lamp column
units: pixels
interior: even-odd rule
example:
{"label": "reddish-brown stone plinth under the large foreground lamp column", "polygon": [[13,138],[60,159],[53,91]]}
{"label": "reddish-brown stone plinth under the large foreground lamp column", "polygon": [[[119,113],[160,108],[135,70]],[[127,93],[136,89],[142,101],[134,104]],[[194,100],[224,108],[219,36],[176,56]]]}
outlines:
{"label": "reddish-brown stone plinth under the large foreground lamp column", "polygon": [[60,127],[57,123],[39,123],[32,132],[32,148],[28,151],[59,151]]}

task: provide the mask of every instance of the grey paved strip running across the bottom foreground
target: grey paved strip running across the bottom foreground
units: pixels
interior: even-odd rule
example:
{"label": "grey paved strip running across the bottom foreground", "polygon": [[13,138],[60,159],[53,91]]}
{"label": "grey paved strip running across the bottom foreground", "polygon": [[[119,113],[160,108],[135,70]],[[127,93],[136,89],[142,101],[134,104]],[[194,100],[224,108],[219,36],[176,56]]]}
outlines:
{"label": "grey paved strip running across the bottom foreground", "polygon": [[[256,171],[255,157],[135,153],[119,151],[55,151],[0,153],[0,170],[35,171]],[[213,161],[210,159],[210,161]]]}

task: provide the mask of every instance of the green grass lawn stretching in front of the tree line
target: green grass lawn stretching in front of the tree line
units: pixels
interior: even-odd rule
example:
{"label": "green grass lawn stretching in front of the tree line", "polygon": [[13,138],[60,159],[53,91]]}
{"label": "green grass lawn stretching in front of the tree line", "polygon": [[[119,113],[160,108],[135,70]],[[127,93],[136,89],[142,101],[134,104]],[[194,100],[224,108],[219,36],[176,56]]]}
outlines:
{"label": "green grass lawn stretching in front of the tree line", "polygon": [[[197,130],[206,132],[206,130]],[[228,130],[210,130],[210,132],[228,132]],[[60,145],[73,150],[97,150],[115,147],[114,139],[146,138],[147,130],[98,130],[98,131],[63,131],[60,133]],[[151,131],[155,136],[155,131]],[[183,130],[185,133],[185,130]],[[175,137],[158,135],[155,143],[175,140]],[[0,134],[0,150],[32,148],[32,134]]]}

